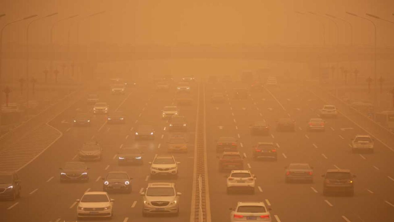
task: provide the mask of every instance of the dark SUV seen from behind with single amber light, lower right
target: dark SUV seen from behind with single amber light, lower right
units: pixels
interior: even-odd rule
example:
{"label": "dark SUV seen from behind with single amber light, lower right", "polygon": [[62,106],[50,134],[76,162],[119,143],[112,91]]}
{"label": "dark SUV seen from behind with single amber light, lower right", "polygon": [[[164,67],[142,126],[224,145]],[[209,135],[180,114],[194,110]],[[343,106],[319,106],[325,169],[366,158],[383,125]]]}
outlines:
{"label": "dark SUV seen from behind with single amber light, lower right", "polygon": [[354,195],[354,181],[356,177],[352,175],[349,169],[328,169],[322,175],[323,195],[326,196],[331,192],[343,192],[349,196]]}

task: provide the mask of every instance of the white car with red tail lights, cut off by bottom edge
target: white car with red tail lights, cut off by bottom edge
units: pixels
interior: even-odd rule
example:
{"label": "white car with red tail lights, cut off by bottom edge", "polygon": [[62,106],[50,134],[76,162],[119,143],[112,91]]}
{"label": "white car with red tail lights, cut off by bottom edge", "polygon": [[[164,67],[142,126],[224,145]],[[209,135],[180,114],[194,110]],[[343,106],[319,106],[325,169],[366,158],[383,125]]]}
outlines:
{"label": "white car with red tail lights, cut off by bottom edge", "polygon": [[271,214],[264,202],[243,201],[238,202],[237,207],[230,208],[230,221],[265,221],[271,222]]}

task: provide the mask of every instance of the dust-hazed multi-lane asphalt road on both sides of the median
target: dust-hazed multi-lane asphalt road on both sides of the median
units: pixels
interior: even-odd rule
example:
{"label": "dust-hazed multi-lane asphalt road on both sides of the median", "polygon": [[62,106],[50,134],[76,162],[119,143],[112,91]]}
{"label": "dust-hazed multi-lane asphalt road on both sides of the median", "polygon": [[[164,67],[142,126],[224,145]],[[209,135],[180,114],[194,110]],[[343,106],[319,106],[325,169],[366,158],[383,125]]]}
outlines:
{"label": "dust-hazed multi-lane asphalt road on both sides of the median", "polygon": [[[14,221],[75,221],[76,202],[85,191],[101,191],[101,177],[113,170],[125,170],[134,179],[131,194],[110,194],[115,199],[113,221],[189,221],[191,186],[193,178],[195,119],[197,94],[205,96],[206,150],[208,161],[208,186],[211,218],[213,222],[229,221],[229,207],[237,201],[264,201],[271,206],[272,220],[299,221],[393,221],[394,218],[394,152],[375,140],[374,154],[353,154],[350,139],[356,134],[366,134],[351,120],[340,115],[327,119],[325,132],[307,132],[307,121],[317,117],[324,102],[302,87],[287,83],[268,87],[262,92],[251,92],[246,100],[235,100],[232,88],[240,83],[193,83],[193,104],[180,106],[180,115],[188,120],[188,153],[173,154],[179,166],[177,179],[149,177],[148,161],[156,154],[167,154],[169,133],[160,110],[175,102],[175,89],[156,92],[153,84],[129,88],[125,95],[99,92],[100,100],[110,105],[110,110],[124,111],[126,124],[106,124],[105,115],[95,115],[89,127],[74,127],[72,117],[77,111],[91,111],[86,100],[80,100],[48,122],[62,136],[30,164],[19,170],[22,180],[22,197],[15,201],[0,201],[1,220]],[[224,103],[211,103],[213,88],[225,95]],[[295,132],[277,132],[276,120],[290,117],[296,120]],[[249,125],[265,119],[271,126],[268,136],[251,136]],[[152,125],[156,137],[153,141],[134,141],[138,125]],[[219,127],[220,126],[220,127]],[[219,136],[238,138],[238,149],[246,157],[245,169],[257,177],[256,193],[227,194],[225,175],[218,171],[215,139]],[[385,138],[382,138],[383,140]],[[86,183],[60,183],[59,167],[67,161],[76,161],[78,148],[84,141],[98,141],[104,147],[100,162],[87,162],[90,180]],[[257,142],[272,141],[278,146],[278,160],[254,161],[251,147]],[[142,166],[117,165],[119,147],[140,146],[144,151]],[[306,162],[314,167],[312,184],[286,184],[284,167],[292,162]],[[327,169],[350,169],[355,178],[355,195],[323,196],[321,174]],[[180,214],[173,217],[142,217],[141,189],[148,182],[175,182],[180,197]]]}

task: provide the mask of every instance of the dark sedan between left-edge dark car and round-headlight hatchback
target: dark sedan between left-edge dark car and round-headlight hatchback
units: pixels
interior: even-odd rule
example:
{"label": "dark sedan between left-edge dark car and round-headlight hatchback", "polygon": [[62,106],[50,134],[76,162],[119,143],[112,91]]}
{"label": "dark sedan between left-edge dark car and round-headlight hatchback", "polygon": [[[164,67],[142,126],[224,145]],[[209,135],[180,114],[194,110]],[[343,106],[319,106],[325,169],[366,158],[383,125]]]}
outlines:
{"label": "dark sedan between left-edge dark car and round-headlight hatchback", "polygon": [[89,181],[89,167],[84,162],[66,162],[60,169],[60,182]]}

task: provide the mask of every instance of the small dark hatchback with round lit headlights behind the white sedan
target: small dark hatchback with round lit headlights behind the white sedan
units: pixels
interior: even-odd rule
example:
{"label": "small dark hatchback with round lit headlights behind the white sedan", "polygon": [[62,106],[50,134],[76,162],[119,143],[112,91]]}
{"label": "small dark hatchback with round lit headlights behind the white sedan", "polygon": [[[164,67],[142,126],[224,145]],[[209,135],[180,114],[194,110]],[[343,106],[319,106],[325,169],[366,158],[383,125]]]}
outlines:
{"label": "small dark hatchback with round lit headlights behind the white sedan", "polygon": [[102,191],[124,191],[131,193],[132,185],[131,180],[126,171],[111,171],[105,177],[102,177],[104,181],[102,184]]}

